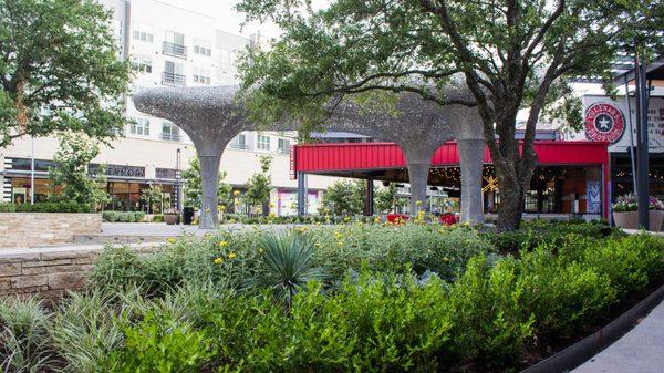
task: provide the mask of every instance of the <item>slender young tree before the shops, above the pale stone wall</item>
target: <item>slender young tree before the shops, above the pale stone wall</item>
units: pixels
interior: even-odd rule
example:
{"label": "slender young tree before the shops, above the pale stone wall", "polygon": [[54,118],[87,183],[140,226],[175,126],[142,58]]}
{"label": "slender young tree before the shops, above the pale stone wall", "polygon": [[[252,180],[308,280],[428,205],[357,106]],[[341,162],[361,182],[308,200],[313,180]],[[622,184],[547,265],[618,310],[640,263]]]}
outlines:
{"label": "slender young tree before the shops, above the pale stone wall", "polygon": [[91,206],[103,205],[107,201],[108,195],[105,190],[104,167],[100,167],[95,175],[89,175],[87,165],[100,153],[97,142],[73,133],[61,133],[59,135],[60,145],[53,155],[54,167],[49,169],[49,175],[53,186],[62,188],[60,194],[52,196],[55,199],[73,200],[79,204],[89,204]]}

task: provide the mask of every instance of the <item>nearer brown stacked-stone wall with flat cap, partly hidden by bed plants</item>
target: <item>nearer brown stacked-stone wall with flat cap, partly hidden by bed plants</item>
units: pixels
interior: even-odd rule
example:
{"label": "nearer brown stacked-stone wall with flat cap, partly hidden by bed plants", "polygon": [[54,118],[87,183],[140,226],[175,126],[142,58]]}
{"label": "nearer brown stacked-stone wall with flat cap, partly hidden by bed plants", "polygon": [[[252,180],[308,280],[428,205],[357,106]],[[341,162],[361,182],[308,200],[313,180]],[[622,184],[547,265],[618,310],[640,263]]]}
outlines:
{"label": "nearer brown stacked-stone wall with flat cap, partly hidden by bed plants", "polygon": [[[133,249],[139,253],[149,253],[158,250],[158,247],[149,244],[135,246]],[[87,272],[102,250],[102,246],[96,246],[66,251],[0,251],[0,297],[39,294],[52,298],[65,290],[81,289],[87,283]]]}

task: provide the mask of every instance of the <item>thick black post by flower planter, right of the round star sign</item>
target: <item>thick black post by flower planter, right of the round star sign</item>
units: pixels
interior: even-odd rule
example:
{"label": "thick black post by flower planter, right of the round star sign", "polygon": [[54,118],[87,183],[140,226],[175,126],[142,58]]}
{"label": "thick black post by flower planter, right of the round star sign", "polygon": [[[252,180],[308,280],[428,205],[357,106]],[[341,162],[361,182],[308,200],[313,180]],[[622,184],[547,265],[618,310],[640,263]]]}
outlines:
{"label": "thick black post by flower planter, right of the round star sign", "polygon": [[645,61],[635,53],[636,72],[636,166],[639,168],[639,227],[650,228],[650,177],[649,177],[649,144],[647,144],[647,86],[645,84]]}

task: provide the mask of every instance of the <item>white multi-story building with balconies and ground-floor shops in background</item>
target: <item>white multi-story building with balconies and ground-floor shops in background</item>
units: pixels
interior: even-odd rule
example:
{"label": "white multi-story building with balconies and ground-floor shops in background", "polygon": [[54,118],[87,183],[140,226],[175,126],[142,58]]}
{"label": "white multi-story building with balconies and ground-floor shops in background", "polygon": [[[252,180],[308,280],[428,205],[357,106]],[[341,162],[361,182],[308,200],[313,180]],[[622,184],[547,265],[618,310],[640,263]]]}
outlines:
{"label": "white multi-story building with balconies and ground-floor shops in background", "polygon": [[[191,9],[159,0],[102,0],[113,10],[118,58],[134,65],[131,92],[157,86],[225,85],[237,83],[236,60],[251,39],[217,29],[217,20]],[[123,137],[104,146],[91,168],[105,164],[107,190],[115,209],[141,209],[141,191],[162,185],[165,200],[177,206],[179,170],[196,156],[194,145],[175,124],[138,112],[124,100],[128,120]],[[294,133],[243,132],[226,149],[221,169],[225,183],[241,189],[260,170],[259,157],[272,156],[272,205],[278,215],[294,214],[297,182],[290,177],[290,145]],[[0,200],[25,201],[31,194],[31,159],[35,159],[34,195],[48,191],[48,169],[53,165],[58,139],[24,137],[0,149]],[[334,178],[308,180],[309,210],[315,211],[321,190]]]}

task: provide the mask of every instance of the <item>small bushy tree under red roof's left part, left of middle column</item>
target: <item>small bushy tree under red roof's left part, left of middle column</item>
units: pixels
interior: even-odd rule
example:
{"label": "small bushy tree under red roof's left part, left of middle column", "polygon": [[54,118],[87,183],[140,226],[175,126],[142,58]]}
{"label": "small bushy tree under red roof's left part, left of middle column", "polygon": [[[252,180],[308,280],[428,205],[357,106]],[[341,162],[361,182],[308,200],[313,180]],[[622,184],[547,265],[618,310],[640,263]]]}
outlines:
{"label": "small bushy tree under red roof's left part, left of middle column", "polygon": [[362,214],[364,209],[364,180],[340,179],[323,194],[321,208],[333,215]]}

